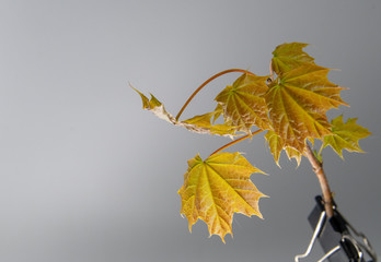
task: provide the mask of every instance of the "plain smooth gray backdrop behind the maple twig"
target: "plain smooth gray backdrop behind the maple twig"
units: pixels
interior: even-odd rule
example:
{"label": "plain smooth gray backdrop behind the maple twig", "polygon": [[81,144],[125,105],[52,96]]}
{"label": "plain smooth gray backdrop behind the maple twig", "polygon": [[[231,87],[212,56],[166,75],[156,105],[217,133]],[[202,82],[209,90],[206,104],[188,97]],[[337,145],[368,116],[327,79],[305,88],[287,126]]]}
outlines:
{"label": "plain smooth gray backdrop behind the maple twig", "polygon": [[[293,261],[312,230],[320,193],[303,159],[279,169],[254,138],[230,148],[270,176],[253,175],[269,199],[264,221],[235,215],[234,239],[193,233],[180,216],[186,160],[229,142],[189,133],[141,110],[130,82],[176,114],[210,75],[230,68],[268,74],[274,48],[312,44],[316,63],[373,135],[367,154],[331,150],[324,165],[342,213],[380,237],[381,2],[0,1],[0,261]],[[213,82],[184,114],[238,74]],[[314,251],[314,258],[322,253]]]}

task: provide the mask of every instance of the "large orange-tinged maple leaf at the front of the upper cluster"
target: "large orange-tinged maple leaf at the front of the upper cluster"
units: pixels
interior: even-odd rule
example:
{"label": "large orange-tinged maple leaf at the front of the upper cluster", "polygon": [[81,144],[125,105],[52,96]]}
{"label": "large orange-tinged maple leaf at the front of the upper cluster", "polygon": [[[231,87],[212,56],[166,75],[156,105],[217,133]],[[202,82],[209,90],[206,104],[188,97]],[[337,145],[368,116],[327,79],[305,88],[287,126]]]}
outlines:
{"label": "large orange-tinged maple leaf at the front of the upper cluster", "polygon": [[327,80],[328,69],[314,63],[281,73],[266,94],[274,131],[286,146],[303,153],[305,139],[331,134],[325,112],[347,105],[339,97],[344,87]]}

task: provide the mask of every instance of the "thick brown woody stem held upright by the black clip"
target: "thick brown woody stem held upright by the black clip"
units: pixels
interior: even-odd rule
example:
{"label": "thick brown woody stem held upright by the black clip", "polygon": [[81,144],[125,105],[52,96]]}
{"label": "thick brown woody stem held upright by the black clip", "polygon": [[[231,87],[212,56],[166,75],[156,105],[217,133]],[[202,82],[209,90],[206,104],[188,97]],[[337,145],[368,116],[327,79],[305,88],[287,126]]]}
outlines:
{"label": "thick brown woody stem held upright by the black clip", "polygon": [[332,217],[334,212],[333,212],[332,192],[330,189],[328,180],[326,179],[326,176],[324,174],[323,164],[318,160],[318,158],[313,154],[308,143],[305,144],[305,156],[310,160],[312,169],[316,174],[320,188],[322,189],[324,209],[325,209],[326,215],[328,217]]}

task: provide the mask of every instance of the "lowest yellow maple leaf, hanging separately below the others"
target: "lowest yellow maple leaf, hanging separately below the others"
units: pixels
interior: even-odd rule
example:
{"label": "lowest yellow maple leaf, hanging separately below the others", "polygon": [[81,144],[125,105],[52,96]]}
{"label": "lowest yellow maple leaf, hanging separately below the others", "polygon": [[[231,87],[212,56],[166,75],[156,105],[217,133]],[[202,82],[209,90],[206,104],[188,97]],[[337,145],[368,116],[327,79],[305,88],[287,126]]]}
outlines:
{"label": "lowest yellow maple leaf, hanging separately below the others", "polygon": [[262,172],[239,153],[219,153],[203,160],[197,154],[188,160],[184,184],[178,190],[182,198],[181,214],[192,226],[203,219],[209,234],[218,235],[224,242],[232,235],[234,213],[262,218],[258,200],[266,196],[250,180],[253,172]]}

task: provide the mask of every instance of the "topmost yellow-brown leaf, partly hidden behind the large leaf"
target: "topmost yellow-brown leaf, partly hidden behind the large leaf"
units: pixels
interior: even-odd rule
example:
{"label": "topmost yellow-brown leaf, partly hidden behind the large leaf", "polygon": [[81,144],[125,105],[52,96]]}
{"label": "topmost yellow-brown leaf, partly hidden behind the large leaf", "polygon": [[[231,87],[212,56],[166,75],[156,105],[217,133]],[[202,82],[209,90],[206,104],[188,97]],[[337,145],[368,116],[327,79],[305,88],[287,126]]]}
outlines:
{"label": "topmost yellow-brown leaf, partly hidden behind the large leaf", "polygon": [[277,46],[273,51],[273,70],[280,75],[304,63],[313,63],[314,59],[302,50],[307,46],[308,44],[303,43],[286,43]]}

